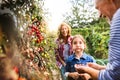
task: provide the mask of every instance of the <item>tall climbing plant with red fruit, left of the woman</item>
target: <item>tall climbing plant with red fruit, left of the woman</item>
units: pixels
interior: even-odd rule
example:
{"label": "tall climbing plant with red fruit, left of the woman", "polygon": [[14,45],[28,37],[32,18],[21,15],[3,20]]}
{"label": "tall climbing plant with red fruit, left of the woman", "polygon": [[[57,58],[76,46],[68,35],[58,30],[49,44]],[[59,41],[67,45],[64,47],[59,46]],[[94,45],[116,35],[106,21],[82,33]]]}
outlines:
{"label": "tall climbing plant with red fruit, left of the woman", "polygon": [[27,79],[52,80],[52,70],[57,69],[54,37],[48,35],[43,6],[44,0],[2,0],[0,3],[1,10],[9,9],[15,17],[21,37],[19,74]]}

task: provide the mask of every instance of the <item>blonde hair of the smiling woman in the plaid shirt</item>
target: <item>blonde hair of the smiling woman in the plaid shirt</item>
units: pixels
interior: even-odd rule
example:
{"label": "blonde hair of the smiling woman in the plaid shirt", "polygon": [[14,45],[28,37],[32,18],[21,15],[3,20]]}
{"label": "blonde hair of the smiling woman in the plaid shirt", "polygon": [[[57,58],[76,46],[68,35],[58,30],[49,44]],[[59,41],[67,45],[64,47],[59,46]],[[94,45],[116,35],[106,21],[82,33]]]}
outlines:
{"label": "blonde hair of the smiling woman in the plaid shirt", "polygon": [[67,23],[62,22],[59,25],[59,27],[58,27],[58,38],[59,39],[63,38],[63,35],[61,34],[61,28],[62,28],[62,26],[67,26],[67,28],[68,28],[68,35],[67,35],[67,37],[71,36],[71,27]]}

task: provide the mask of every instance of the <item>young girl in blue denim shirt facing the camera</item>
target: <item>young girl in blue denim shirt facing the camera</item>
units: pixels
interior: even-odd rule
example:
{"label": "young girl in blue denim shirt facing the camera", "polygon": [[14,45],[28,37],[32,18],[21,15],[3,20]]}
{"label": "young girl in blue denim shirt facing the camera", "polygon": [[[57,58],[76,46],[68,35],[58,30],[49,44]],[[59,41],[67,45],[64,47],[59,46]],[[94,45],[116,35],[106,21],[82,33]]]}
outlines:
{"label": "young girl in blue denim shirt facing the camera", "polygon": [[68,77],[68,80],[90,79],[90,75],[84,73],[86,75],[86,77],[84,77],[75,70],[75,66],[86,65],[88,62],[95,62],[92,56],[84,52],[86,48],[84,38],[81,35],[75,35],[71,41],[71,46],[73,54],[67,59],[65,76]]}

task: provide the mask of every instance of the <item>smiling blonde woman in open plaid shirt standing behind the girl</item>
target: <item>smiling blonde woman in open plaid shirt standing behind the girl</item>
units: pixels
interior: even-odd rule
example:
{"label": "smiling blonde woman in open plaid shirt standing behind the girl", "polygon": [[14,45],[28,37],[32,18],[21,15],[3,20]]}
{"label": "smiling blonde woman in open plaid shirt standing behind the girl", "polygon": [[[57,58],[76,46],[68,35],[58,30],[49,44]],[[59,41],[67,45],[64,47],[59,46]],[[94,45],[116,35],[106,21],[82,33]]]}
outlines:
{"label": "smiling blonde woman in open plaid shirt standing behind the girl", "polygon": [[61,70],[61,75],[63,80],[65,80],[64,77],[64,70],[66,66],[66,59],[71,54],[71,27],[65,23],[62,22],[58,28],[58,38],[56,40],[57,49],[55,51],[56,53],[56,59],[57,59],[57,65]]}

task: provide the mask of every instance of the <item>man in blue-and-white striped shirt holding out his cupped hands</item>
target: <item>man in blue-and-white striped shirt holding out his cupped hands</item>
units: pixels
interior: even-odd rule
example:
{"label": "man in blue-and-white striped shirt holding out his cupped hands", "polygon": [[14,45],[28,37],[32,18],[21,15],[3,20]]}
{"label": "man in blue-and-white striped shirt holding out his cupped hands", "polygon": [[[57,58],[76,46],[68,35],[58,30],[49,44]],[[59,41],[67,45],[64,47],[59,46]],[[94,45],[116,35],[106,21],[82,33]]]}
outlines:
{"label": "man in blue-and-white striped shirt holding out his cupped hands", "polygon": [[120,0],[95,0],[96,9],[110,21],[109,57],[107,66],[89,63],[76,67],[94,80],[120,80]]}

